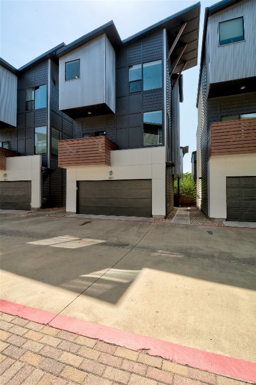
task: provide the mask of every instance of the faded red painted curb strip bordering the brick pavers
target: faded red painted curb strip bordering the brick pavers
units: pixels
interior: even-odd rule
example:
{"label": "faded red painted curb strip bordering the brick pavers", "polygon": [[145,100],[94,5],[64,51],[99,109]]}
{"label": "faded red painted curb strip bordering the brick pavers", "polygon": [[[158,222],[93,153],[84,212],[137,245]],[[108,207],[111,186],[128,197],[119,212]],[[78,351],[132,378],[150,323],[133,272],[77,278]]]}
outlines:
{"label": "faded red painted curb strip bordering the brick pavers", "polygon": [[108,326],[19,305],[3,299],[0,299],[0,311],[11,315],[18,315],[21,318],[40,324],[47,324],[57,329],[103,340],[128,349],[137,351],[146,349],[150,355],[158,355],[182,365],[230,376],[243,381],[256,381],[256,363],[253,362],[117,330]]}

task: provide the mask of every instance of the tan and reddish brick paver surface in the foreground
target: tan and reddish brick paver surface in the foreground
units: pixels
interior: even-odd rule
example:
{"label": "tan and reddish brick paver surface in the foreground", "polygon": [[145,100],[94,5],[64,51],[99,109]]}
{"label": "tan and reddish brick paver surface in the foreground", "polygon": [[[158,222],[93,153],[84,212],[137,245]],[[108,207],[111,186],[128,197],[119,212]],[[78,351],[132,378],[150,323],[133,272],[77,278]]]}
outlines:
{"label": "tan and reddish brick paver surface in the foreground", "polygon": [[245,382],[0,313],[0,385],[245,385]]}

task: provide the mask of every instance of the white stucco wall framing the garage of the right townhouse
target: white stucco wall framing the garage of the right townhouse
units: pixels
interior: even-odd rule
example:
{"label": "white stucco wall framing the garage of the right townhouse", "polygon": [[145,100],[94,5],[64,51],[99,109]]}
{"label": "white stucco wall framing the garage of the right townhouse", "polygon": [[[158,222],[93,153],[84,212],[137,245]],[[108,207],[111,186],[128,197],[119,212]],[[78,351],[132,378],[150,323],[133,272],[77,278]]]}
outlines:
{"label": "white stucco wall framing the garage of the right townhouse", "polygon": [[226,176],[255,176],[256,154],[211,156],[208,160],[208,216],[226,218]]}

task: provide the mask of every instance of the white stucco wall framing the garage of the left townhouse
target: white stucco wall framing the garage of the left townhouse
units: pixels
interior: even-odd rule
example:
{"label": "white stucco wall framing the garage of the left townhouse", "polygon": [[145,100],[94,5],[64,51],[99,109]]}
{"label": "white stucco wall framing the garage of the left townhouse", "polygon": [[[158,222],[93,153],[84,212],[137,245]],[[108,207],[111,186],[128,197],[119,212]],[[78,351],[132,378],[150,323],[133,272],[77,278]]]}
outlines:
{"label": "white stucco wall framing the garage of the left townhouse", "polygon": [[[6,174],[6,176],[4,176]],[[1,181],[31,180],[31,208],[41,205],[41,156],[6,158],[6,170],[0,170]]]}

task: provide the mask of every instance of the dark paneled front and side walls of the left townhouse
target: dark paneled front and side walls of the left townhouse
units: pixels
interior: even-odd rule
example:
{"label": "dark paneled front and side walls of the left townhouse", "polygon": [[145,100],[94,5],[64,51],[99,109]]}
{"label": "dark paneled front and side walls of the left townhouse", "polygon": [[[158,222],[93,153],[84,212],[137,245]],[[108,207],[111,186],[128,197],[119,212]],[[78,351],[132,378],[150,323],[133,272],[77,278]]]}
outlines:
{"label": "dark paneled front and side walls of the left townhouse", "polygon": [[[34,128],[46,126],[47,138],[51,127],[62,132],[62,139],[73,138],[73,120],[58,110],[58,66],[50,62],[50,127],[48,127],[48,60],[45,60],[27,71],[18,74],[17,82],[17,127],[1,128],[0,141],[10,141],[10,149],[18,155],[34,154]],[[26,111],[26,89],[46,85],[47,104],[45,108]],[[50,153],[50,163],[47,152],[41,154],[41,164],[49,167],[42,173],[42,206],[60,207],[65,205],[66,171],[57,167],[57,155]]]}

